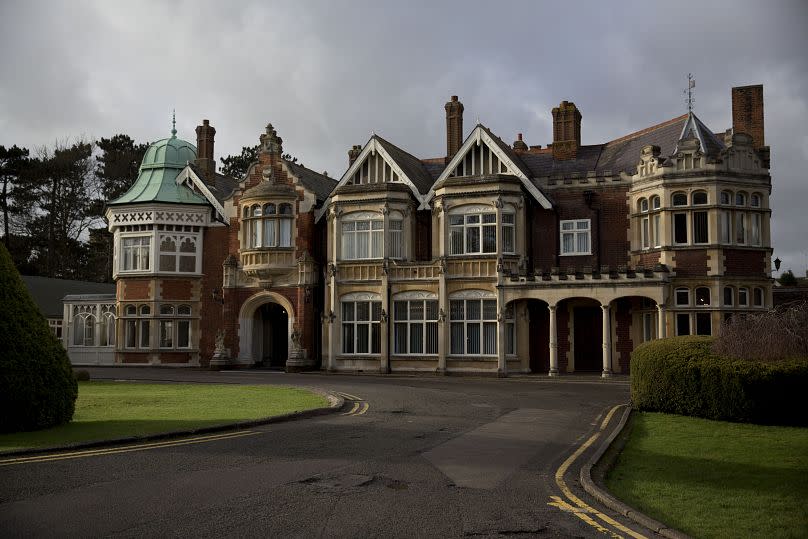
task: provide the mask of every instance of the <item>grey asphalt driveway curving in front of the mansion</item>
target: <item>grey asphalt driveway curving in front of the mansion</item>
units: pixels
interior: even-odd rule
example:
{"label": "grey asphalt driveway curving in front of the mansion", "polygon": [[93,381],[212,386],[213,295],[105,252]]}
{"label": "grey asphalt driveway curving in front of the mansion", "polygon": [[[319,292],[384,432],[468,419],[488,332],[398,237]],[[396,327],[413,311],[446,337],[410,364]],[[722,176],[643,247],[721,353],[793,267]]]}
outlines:
{"label": "grey asphalt driveway curving in front of the mansion", "polygon": [[[0,536],[602,537],[570,506],[553,503],[571,504],[555,473],[629,393],[627,379],[594,376],[91,372],[301,385],[350,397],[340,414],[233,436],[0,464]],[[593,450],[572,463],[566,483],[650,536],[578,487]]]}

